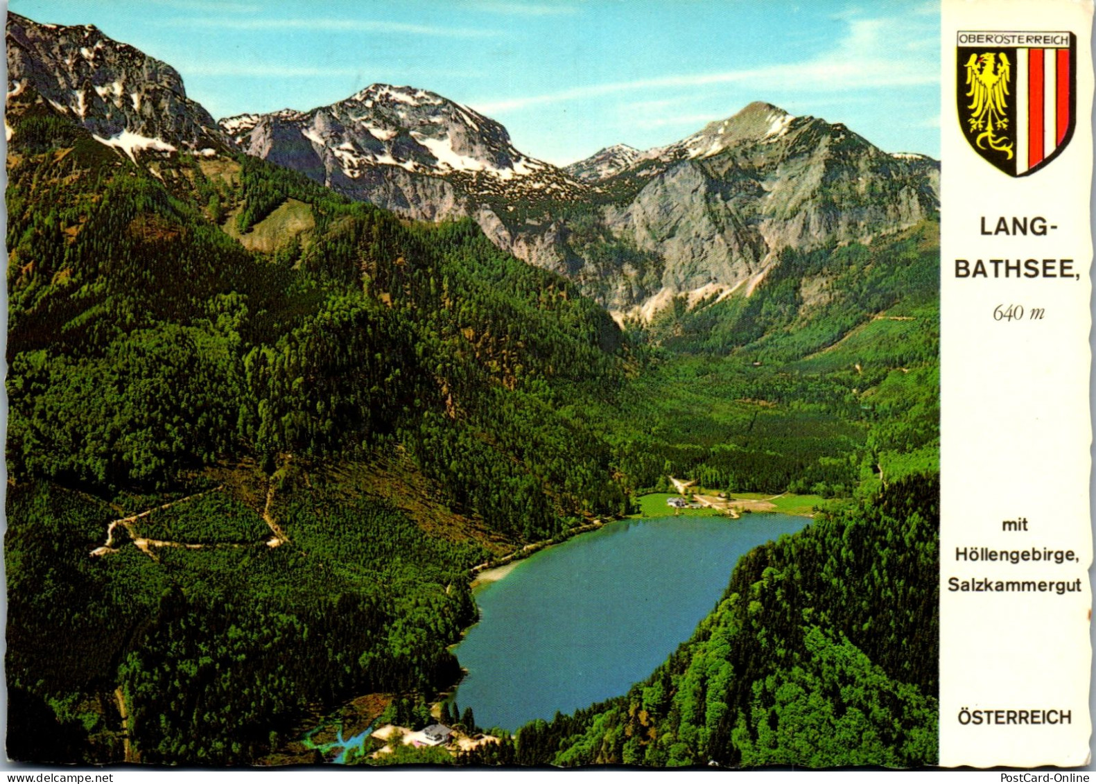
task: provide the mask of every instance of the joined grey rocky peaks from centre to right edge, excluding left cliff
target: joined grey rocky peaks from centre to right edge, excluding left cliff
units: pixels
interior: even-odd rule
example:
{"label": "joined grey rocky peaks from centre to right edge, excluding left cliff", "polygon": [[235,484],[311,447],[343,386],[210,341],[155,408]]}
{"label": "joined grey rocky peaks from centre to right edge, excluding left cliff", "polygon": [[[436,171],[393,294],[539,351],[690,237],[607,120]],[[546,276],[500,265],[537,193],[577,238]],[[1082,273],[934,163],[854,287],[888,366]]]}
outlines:
{"label": "joined grey rocky peaks from centre to right edge, excluding left cliff", "polygon": [[[938,205],[935,161],[763,102],[666,147],[614,145],[562,170],[516,150],[495,121],[411,87],[370,84],[221,127],[251,155],[353,198],[416,218],[470,216],[501,248],[641,318],[678,294],[750,292],[785,248],[867,239]],[[585,204],[581,231],[561,217],[574,203]],[[598,251],[606,239],[613,253]]]}

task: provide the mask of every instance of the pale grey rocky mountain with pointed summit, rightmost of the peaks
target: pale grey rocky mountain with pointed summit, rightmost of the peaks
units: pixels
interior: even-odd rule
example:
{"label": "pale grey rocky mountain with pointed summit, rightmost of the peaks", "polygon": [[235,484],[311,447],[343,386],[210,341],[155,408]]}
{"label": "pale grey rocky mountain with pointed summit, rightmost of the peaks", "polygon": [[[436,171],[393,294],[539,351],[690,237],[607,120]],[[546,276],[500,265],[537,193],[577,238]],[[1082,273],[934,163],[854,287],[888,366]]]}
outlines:
{"label": "pale grey rocky mountain with pointed summit, rightmost of the peaks", "polygon": [[[845,126],[764,103],[603,180],[633,191],[603,207],[615,237],[661,259],[661,287],[618,287],[609,305],[646,317],[651,298],[752,291],[786,248],[867,241],[935,219],[939,168],[893,156]],[[632,302],[628,302],[629,297]]]}

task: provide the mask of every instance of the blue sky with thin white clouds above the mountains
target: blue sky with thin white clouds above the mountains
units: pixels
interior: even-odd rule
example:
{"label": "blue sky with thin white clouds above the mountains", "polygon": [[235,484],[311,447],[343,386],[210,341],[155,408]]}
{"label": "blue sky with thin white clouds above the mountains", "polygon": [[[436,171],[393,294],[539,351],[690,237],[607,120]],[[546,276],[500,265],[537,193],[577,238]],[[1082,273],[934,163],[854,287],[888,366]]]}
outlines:
{"label": "blue sky with thin white clouds above the mountains", "polygon": [[675,141],[755,100],[939,155],[935,0],[11,0],[174,66],[215,117],[373,82],[468,104],[568,163]]}

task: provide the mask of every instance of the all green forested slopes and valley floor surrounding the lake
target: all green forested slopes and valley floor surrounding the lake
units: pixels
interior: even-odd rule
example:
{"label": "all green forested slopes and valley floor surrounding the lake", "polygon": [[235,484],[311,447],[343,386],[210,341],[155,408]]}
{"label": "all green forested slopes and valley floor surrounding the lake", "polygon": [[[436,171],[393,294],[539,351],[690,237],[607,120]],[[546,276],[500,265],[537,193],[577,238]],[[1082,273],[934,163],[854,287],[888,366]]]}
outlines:
{"label": "all green forested slopes and valley floor surrounding the lake", "polygon": [[477,759],[933,758],[934,225],[625,332],[471,220],[129,157],[33,87],[7,121],[12,758],[252,763],[355,695],[424,707],[472,566],[671,474],[846,500],[648,682]]}

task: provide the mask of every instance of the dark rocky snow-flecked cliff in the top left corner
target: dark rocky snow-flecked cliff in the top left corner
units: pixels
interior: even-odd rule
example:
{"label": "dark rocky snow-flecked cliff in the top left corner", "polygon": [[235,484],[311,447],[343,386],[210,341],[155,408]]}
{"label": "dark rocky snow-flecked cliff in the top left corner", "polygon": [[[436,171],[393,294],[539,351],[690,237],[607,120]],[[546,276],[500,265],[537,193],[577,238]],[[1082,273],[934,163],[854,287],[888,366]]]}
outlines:
{"label": "dark rocky snow-flecked cliff in the top left corner", "polygon": [[8,98],[47,102],[100,141],[124,149],[225,149],[209,113],[174,68],[94,25],[39,24],[8,13]]}

